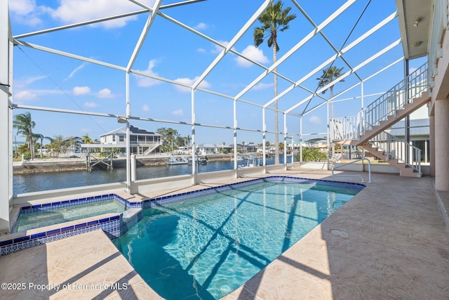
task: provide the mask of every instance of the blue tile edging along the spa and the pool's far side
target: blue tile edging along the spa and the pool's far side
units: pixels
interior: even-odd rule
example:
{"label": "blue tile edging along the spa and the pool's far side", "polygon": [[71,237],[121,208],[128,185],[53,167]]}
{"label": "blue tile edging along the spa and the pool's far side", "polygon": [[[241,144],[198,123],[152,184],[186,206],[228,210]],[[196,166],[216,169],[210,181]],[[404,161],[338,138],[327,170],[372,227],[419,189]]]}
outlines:
{"label": "blue tile edging along the spa and the pool's far side", "polygon": [[[355,190],[363,190],[366,185],[361,183],[351,183],[346,181],[329,181],[324,179],[311,179],[293,176],[265,176],[259,178],[253,178],[245,181],[239,181],[237,183],[229,183],[224,185],[217,185],[209,188],[202,188],[198,190],[192,190],[185,193],[177,193],[173,195],[166,195],[160,197],[153,197],[149,199],[142,199],[130,201],[134,197],[121,197],[117,193],[110,193],[104,195],[95,195],[91,197],[81,197],[73,200],[62,200],[34,205],[23,205],[20,209],[51,209],[51,207],[60,207],[64,204],[80,204],[79,202],[86,201],[102,201],[104,197],[116,197],[117,200],[123,202],[127,209],[125,216],[121,214],[103,214],[99,216],[93,216],[88,219],[79,219],[76,221],[70,221],[65,223],[59,223],[52,226],[46,226],[41,228],[34,228],[32,230],[22,231],[20,233],[10,233],[9,235],[0,236],[0,256],[5,256],[14,252],[19,252],[22,249],[34,247],[39,244],[45,244],[47,242],[53,242],[55,240],[61,240],[73,235],[79,235],[81,233],[87,233],[93,230],[102,229],[107,236],[114,240],[121,237],[131,227],[133,227],[143,217],[143,209],[152,207],[164,206],[175,202],[185,201],[196,197],[202,197],[213,193],[220,193],[232,188],[239,188],[247,185],[253,185],[255,183],[261,183],[265,181],[288,181],[293,183],[317,183],[319,185],[337,186],[341,188],[351,188]],[[135,209],[135,210],[133,210]],[[14,223],[17,221],[15,219]],[[15,228],[15,225],[13,225]]]}

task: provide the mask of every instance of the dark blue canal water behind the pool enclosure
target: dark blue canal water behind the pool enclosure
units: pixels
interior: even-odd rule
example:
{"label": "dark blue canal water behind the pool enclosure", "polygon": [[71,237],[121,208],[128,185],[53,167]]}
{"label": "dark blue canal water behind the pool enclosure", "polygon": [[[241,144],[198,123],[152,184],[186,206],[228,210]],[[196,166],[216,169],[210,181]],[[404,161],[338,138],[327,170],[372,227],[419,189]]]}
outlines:
{"label": "dark blue canal water behind the pool enclosure", "polygon": [[[288,157],[290,162],[291,157]],[[283,156],[279,157],[283,163]],[[262,162],[262,159],[260,159]],[[238,164],[246,164],[246,160],[241,160]],[[267,158],[267,164],[274,164],[274,157]],[[234,162],[208,162],[199,165],[199,173],[232,170]],[[178,164],[171,166],[144,166],[138,167],[138,180],[148,178],[160,178],[192,174],[192,164]],[[63,171],[38,174],[14,174],[13,193],[32,193],[42,190],[57,190],[60,188],[76,188],[85,185],[98,185],[104,183],[115,183],[126,181],[126,169],[93,170],[86,171]]]}

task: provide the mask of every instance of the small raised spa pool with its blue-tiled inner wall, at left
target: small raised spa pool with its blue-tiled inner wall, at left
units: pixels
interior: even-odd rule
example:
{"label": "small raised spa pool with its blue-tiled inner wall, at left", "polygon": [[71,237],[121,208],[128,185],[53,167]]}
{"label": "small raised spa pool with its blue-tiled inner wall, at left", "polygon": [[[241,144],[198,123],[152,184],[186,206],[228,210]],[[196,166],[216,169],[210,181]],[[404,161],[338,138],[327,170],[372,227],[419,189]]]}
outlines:
{"label": "small raised spa pool with its blue-tiled inner wall, at left", "polygon": [[126,202],[114,194],[21,207],[13,233],[100,214],[122,213],[125,209]]}

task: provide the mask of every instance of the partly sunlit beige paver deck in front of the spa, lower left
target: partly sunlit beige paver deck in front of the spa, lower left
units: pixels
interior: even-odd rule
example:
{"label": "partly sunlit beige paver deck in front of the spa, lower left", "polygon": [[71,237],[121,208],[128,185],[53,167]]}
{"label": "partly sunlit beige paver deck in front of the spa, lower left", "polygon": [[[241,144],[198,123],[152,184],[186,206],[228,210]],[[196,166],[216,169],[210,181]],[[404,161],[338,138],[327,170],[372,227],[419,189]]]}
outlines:
{"label": "partly sunlit beige paver deck in front of the spa, lower left", "polygon": [[101,230],[0,257],[0,281],[0,299],[161,299]]}

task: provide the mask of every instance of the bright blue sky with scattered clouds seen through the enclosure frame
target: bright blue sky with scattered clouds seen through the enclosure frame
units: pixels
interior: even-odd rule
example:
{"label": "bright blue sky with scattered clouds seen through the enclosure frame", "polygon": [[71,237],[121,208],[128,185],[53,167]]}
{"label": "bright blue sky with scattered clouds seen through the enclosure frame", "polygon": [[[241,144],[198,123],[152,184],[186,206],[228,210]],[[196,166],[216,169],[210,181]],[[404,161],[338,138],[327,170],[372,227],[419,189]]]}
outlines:
{"label": "bright blue sky with scattered clouds seen through the enclosure frame", "polygon": [[[140,1],[147,6],[154,6],[154,0]],[[132,64],[129,76],[130,115],[152,121],[131,120],[130,124],[149,131],[171,127],[181,136],[192,136],[192,126],[182,124],[192,122],[191,89],[172,82],[187,86],[194,84],[210,65],[215,64],[217,58],[220,58],[222,47],[227,46],[238,35],[264,1],[207,0],[169,6],[177,2],[179,1],[162,1],[160,14],[155,16]],[[346,2],[284,1],[283,7],[290,7],[290,13],[295,14],[296,18],[289,23],[288,30],[278,34],[278,60],[283,59],[290,48],[314,32],[312,22],[315,25],[321,24]],[[72,53],[81,58],[60,56],[25,44],[15,46],[13,103],[52,110],[126,114],[126,72],[92,61],[126,68],[149,18],[148,12],[29,37],[21,35],[126,12],[143,11],[144,8],[126,0],[10,0],[8,4],[15,39],[21,43]],[[286,123],[288,133],[294,136],[295,141],[299,139],[301,115],[304,140],[326,136],[327,108],[326,105],[317,105],[325,103],[323,98],[327,99],[330,91],[320,93],[319,96],[323,98],[307,98],[317,90],[317,78],[322,74],[321,69],[316,70],[316,67],[334,56],[335,49],[341,50],[351,45],[395,11],[394,0],[356,1],[324,27],[322,35],[313,35],[277,67],[277,72],[281,75],[278,77],[278,91],[283,94],[278,101],[279,110],[291,110],[293,115],[286,117]],[[182,27],[183,25],[191,30]],[[262,143],[262,106],[274,97],[273,75],[262,74],[274,60],[273,50],[267,46],[266,41],[257,48],[253,45],[253,30],[258,26],[260,22],[255,20],[241,34],[232,51],[218,60],[204,77],[199,88],[208,92],[194,92],[196,123],[204,125],[196,126],[196,143],[233,142],[234,132],[230,129],[234,126],[232,99],[239,94],[242,95],[236,102],[236,118],[242,130],[238,131],[237,140],[239,143]],[[345,51],[342,57],[326,65],[342,68],[343,73],[349,73],[344,81],[337,82],[334,86],[334,95],[337,95],[334,99],[335,117],[356,115],[361,110],[361,80],[364,106],[379,97],[379,93],[401,81],[404,67],[400,43],[392,46],[391,50],[379,58],[361,66],[368,58],[398,39],[400,33],[396,17],[361,43]],[[258,65],[233,52],[241,53]],[[422,59],[413,60],[410,68],[413,70],[422,63]],[[391,67],[387,70],[371,77],[389,65]],[[356,69],[356,72],[350,72],[351,69]],[[166,81],[136,73],[149,74]],[[248,84],[260,76],[260,81],[253,84],[249,91],[242,93]],[[300,86],[292,89],[293,83],[300,79]],[[343,91],[345,92],[342,93]],[[342,94],[339,95],[340,93]],[[303,104],[296,107],[301,102]],[[269,108],[272,107],[274,106],[269,105]],[[121,126],[112,117],[22,108],[15,109],[13,113],[16,115],[27,111],[31,112],[32,119],[36,122],[34,132],[51,138],[87,134],[93,139],[100,139],[100,135]],[[274,131],[272,109],[266,111],[266,124],[267,131]],[[283,132],[282,113],[279,114],[279,129]],[[23,138],[18,136],[17,139],[20,141]],[[267,133],[267,141],[274,142],[274,134]]]}

